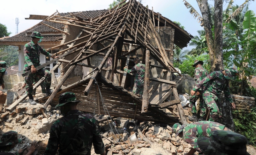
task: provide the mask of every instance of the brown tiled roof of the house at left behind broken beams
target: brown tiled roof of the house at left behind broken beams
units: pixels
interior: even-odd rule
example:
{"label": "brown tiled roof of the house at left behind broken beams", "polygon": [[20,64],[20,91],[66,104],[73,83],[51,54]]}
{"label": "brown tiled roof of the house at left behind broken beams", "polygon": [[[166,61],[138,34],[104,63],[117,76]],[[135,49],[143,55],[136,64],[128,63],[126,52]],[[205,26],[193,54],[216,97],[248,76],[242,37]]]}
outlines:
{"label": "brown tiled roof of the house at left behind broken beams", "polygon": [[[97,17],[98,15],[101,15],[105,13],[107,10],[91,10],[91,11],[82,11],[82,12],[72,12],[73,14],[77,15],[78,17],[82,19],[88,19],[89,18],[94,18]],[[68,12],[67,13],[60,13],[61,16],[67,16],[67,17],[72,17]],[[44,21],[45,24],[53,26],[54,28],[63,30],[64,25],[60,23],[54,23],[54,22],[47,22]],[[25,31],[16,34],[15,36],[9,37],[9,38],[4,38],[0,40],[1,41],[12,41],[12,42],[18,42],[18,41],[25,41],[28,42],[31,40],[30,36],[26,36],[26,33],[32,33],[33,31],[38,31],[38,32],[58,32],[55,29],[49,28],[47,26],[44,26],[42,24],[37,24],[33,26],[30,29],[26,29]],[[61,41],[62,40],[62,35],[56,35],[56,36],[44,36],[43,41]]]}

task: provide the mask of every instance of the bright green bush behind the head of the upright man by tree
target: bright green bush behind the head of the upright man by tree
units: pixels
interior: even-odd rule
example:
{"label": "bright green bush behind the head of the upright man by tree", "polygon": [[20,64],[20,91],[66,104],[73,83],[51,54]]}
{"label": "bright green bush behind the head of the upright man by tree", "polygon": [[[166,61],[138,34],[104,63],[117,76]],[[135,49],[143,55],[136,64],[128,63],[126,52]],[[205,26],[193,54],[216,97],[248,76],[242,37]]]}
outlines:
{"label": "bright green bush behind the head of the upright man by tree", "polygon": [[203,67],[207,69],[207,71],[210,71],[210,57],[208,54],[202,54],[197,57],[186,55],[186,60],[184,60],[179,66],[181,74],[189,74],[191,77],[194,77],[195,67],[192,67],[192,65],[194,64],[195,60],[203,61]]}

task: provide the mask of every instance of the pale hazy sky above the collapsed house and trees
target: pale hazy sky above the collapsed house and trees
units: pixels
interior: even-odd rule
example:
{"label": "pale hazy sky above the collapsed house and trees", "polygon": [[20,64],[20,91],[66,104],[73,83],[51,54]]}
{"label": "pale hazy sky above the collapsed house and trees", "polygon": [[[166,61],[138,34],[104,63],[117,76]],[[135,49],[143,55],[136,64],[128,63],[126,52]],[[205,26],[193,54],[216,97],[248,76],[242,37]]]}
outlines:
{"label": "pale hazy sky above the collapsed house and trees", "polygon": [[[214,5],[214,0],[208,0]],[[233,4],[241,5],[245,0],[234,0]],[[3,0],[0,9],[0,23],[7,26],[11,35],[16,32],[16,17],[19,18],[19,32],[31,28],[40,20],[26,20],[30,14],[35,15],[51,15],[56,10],[58,12],[77,12],[87,10],[102,10],[107,9],[113,0]],[[199,13],[200,9],[196,0],[187,0]],[[249,9],[256,12],[256,2],[249,2]],[[193,18],[184,5],[183,0],[142,0],[144,6],[148,5],[149,9],[154,9],[154,12],[160,12],[161,15],[167,17],[171,21],[178,21],[185,30],[193,36],[197,35],[197,30],[203,29],[200,24]],[[228,3],[224,3],[223,8],[226,9]],[[188,47],[184,49],[191,49]]]}

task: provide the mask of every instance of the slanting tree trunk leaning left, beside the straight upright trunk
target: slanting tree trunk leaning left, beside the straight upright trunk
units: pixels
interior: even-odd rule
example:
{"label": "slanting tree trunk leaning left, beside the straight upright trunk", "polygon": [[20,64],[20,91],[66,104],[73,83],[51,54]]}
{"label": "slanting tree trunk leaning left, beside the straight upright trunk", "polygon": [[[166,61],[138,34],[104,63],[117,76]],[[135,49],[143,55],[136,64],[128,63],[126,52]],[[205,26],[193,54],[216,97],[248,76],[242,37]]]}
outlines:
{"label": "slanting tree trunk leaning left, beside the straight upright trunk", "polygon": [[211,72],[215,69],[213,68],[214,65],[214,41],[212,36],[212,28],[211,28],[211,21],[209,20],[209,9],[208,9],[208,2],[207,0],[196,0],[198,6],[200,8],[202,18],[203,18],[203,28],[205,30],[205,37],[207,41],[207,45],[209,48],[209,55],[210,55],[210,64],[211,64]]}

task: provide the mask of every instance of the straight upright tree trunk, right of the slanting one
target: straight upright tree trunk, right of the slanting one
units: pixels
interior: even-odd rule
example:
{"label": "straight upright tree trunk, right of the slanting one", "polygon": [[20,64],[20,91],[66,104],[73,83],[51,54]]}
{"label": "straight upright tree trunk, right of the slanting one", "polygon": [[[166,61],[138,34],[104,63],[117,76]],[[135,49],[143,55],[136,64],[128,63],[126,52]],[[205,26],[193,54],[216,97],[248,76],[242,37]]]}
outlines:
{"label": "straight upright tree trunk, right of the slanting one", "polygon": [[223,52],[222,52],[222,0],[214,1],[214,64],[211,70],[221,71],[223,70]]}

